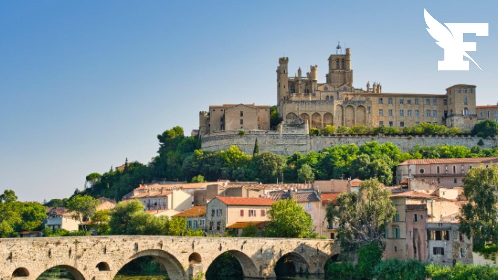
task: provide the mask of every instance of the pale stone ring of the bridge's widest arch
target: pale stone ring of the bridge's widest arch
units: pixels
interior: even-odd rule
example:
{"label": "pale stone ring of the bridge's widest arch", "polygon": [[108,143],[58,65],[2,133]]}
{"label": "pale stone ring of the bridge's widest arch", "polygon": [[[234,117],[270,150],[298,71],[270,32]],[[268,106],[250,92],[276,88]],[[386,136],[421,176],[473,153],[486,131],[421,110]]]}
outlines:
{"label": "pale stone ring of the bridge's widest arch", "polygon": [[[131,257],[129,257],[127,260],[125,260],[122,264],[118,265],[117,268],[113,272],[113,277],[116,276],[116,274],[129,262],[141,258],[141,257],[152,257],[156,261],[158,261],[165,269],[166,273],[168,274],[168,278],[171,280],[184,280],[188,279],[185,273],[185,270],[183,269],[183,266],[181,263],[176,259],[175,256],[171,255],[170,253],[159,250],[159,249],[147,249],[140,251]],[[78,280],[78,279],[77,279]]]}

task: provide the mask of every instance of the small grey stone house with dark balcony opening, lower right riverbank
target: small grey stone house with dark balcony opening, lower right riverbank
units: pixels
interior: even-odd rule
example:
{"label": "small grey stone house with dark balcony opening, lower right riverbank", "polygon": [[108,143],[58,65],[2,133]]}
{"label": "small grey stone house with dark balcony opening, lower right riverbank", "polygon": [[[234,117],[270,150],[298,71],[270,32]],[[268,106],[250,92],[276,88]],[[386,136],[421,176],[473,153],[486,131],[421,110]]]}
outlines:
{"label": "small grey stone house with dark balcony opening, lower right riverbank", "polygon": [[459,221],[427,223],[428,261],[442,266],[472,264],[472,239],[460,232]]}

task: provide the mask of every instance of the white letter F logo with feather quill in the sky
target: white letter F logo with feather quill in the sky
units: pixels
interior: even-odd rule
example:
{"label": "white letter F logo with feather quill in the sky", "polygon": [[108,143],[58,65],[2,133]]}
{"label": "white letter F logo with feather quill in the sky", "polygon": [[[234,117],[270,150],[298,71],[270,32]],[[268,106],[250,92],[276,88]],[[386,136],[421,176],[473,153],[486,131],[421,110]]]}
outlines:
{"label": "white letter F logo with feather quill in the sky", "polygon": [[[467,57],[474,62],[479,69],[481,67],[467,53],[476,51],[476,42],[464,42],[464,33],[475,33],[476,36],[488,36],[488,23],[439,23],[424,9],[427,31],[436,39],[436,44],[444,49],[444,60],[438,61],[438,70],[469,70]],[[483,70],[483,69],[481,69]]]}

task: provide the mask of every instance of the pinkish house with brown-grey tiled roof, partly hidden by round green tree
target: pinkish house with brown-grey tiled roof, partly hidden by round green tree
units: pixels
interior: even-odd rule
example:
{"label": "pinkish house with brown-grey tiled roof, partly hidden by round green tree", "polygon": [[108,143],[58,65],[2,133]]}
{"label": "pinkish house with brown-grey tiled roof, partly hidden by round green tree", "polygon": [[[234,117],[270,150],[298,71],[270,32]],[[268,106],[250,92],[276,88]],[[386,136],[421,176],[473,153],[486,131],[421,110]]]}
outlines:
{"label": "pinkish house with brown-grey tiled roof, partly hidden by round green tree", "polygon": [[322,203],[320,195],[316,190],[279,190],[268,193],[268,198],[273,201],[292,199],[304,209],[313,219],[313,229],[320,234],[322,232]]}

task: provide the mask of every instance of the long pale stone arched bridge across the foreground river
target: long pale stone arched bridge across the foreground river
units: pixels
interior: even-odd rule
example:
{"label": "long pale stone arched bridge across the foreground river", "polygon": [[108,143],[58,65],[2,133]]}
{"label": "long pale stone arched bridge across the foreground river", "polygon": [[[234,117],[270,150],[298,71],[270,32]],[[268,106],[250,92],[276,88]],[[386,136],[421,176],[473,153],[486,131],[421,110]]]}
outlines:
{"label": "long pale stone arched bridge across the foreground river", "polygon": [[[239,237],[95,236],[0,239],[0,279],[36,280],[63,267],[76,280],[112,280],[130,261],[151,256],[171,280],[202,276],[222,253],[237,258],[247,278],[275,278],[285,258],[296,271],[323,274],[338,254],[332,240]],[[202,277],[201,277],[202,278]]]}

